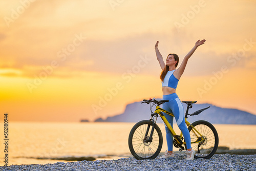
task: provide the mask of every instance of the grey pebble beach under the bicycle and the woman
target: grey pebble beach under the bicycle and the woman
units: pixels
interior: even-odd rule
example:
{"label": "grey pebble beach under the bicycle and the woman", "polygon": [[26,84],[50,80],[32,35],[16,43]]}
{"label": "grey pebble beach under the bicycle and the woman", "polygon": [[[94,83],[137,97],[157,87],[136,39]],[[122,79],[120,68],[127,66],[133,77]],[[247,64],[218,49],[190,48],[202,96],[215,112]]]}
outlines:
{"label": "grey pebble beach under the bicycle and the woman", "polygon": [[2,166],[0,170],[256,170],[256,155],[214,155],[210,159],[185,160],[184,154],[174,158],[137,160],[96,160]]}

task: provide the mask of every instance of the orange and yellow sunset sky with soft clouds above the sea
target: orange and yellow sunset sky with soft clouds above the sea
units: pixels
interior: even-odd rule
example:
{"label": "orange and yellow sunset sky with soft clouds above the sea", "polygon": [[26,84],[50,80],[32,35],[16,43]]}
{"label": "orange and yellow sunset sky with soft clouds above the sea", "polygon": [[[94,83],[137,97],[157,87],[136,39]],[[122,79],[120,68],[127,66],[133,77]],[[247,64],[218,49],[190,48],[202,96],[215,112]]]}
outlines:
{"label": "orange and yellow sunset sky with soft clouds above the sea", "polygon": [[180,99],[256,114],[255,1],[10,0],[0,8],[2,117],[121,114],[162,97],[156,41],[164,58],[182,61],[198,39],[206,42],[188,61]]}

